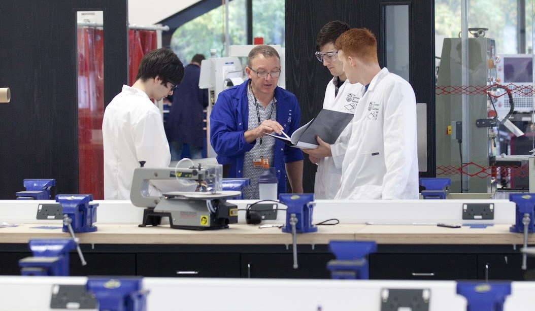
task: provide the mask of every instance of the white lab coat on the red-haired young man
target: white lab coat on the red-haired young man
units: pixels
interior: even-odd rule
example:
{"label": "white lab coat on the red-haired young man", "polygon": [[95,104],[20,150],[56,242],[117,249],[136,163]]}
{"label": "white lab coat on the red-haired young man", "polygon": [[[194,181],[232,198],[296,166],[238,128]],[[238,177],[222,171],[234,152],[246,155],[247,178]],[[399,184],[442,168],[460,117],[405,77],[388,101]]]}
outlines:
{"label": "white lab coat on the red-haired young man", "polygon": [[418,199],[416,98],[383,68],[355,110],[336,199]]}

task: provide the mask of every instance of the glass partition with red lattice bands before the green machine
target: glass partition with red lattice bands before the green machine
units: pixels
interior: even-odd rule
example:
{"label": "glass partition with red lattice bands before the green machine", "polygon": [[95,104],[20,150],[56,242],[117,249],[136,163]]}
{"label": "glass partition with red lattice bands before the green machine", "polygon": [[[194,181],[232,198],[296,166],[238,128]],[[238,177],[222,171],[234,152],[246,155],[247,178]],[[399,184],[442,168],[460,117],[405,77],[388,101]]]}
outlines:
{"label": "glass partition with red lattice bands before the green machine", "polygon": [[529,1],[435,0],[437,177],[450,192],[528,191],[532,18]]}

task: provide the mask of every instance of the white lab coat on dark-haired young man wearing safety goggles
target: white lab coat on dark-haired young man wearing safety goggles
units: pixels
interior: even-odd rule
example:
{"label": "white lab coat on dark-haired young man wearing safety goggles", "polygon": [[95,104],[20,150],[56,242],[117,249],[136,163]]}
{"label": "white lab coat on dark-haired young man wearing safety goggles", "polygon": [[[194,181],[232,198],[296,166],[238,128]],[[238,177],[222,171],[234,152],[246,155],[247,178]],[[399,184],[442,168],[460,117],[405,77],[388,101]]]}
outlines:
{"label": "white lab coat on dark-haired young man wearing safety goggles", "polygon": [[[351,114],[355,113],[355,107],[362,96],[364,86],[360,83],[351,84],[346,80],[338,90],[338,95],[334,97],[333,80],[327,84],[323,108]],[[337,141],[331,145],[333,157],[326,157],[319,160],[314,183],[314,197],[316,199],[334,199],[334,196],[340,189],[342,160],[346,153],[347,136],[349,133],[349,129],[346,128],[342,131]]]}

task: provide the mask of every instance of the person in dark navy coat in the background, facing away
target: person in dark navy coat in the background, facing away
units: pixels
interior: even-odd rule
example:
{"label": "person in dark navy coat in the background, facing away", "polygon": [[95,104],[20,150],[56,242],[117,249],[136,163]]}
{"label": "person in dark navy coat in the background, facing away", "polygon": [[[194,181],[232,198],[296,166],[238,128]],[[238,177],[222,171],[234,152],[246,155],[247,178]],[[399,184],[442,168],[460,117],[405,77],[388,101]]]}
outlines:
{"label": "person in dark navy coat in the background, facing away", "polygon": [[201,159],[205,143],[204,108],[208,106],[208,89],[199,88],[202,54],[195,54],[184,69],[184,80],[172,96],[172,106],[165,133],[171,149],[171,161],[182,158],[182,148],[187,145],[191,159]]}

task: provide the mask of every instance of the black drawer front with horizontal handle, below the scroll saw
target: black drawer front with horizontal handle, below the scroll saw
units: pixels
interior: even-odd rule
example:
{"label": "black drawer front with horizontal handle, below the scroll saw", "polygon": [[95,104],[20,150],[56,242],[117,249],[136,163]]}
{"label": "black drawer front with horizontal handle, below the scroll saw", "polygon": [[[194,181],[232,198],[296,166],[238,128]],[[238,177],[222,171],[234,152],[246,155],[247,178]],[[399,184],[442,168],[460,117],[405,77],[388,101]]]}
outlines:
{"label": "black drawer front with horizontal handle, below the scroll saw", "polygon": [[151,277],[240,277],[235,253],[138,253],[137,275]]}

